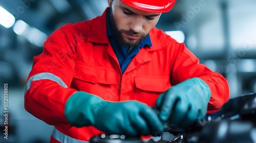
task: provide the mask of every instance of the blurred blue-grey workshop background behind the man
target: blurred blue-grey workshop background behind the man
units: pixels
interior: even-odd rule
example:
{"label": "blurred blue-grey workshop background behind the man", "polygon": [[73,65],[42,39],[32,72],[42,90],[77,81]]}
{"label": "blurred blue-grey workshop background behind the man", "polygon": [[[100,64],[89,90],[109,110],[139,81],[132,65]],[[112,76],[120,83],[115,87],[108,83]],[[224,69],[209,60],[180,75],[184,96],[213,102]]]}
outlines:
{"label": "blurred blue-grey workshop background behind the man", "polygon": [[[49,142],[52,126],[24,109],[32,59],[54,30],[101,15],[106,7],[107,0],[0,1],[0,142]],[[225,76],[230,98],[256,92],[255,0],[178,0],[157,27],[184,41],[201,63]],[[8,139],[3,131],[4,83]]]}

